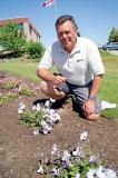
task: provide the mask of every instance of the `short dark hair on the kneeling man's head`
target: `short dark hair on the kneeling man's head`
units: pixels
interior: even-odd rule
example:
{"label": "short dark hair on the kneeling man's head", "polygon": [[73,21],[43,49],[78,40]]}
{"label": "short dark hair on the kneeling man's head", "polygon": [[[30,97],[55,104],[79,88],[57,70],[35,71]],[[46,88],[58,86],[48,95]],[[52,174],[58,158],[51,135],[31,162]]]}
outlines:
{"label": "short dark hair on the kneeling man's head", "polygon": [[63,22],[66,22],[66,21],[68,21],[68,20],[71,21],[71,23],[73,24],[75,30],[77,31],[77,36],[80,37],[80,33],[79,33],[79,31],[78,31],[78,26],[77,26],[77,23],[76,23],[76,21],[75,21],[75,18],[73,18],[72,16],[69,16],[69,14],[62,14],[62,16],[60,16],[60,17],[57,19],[57,21],[56,21],[56,28],[57,28],[59,24],[62,24]]}

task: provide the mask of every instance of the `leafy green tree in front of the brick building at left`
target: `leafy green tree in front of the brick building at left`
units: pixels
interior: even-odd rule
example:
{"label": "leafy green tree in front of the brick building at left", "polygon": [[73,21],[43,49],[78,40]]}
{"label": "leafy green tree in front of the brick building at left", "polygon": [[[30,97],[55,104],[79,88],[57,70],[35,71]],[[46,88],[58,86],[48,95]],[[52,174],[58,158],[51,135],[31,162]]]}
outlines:
{"label": "leafy green tree in front of the brick building at left", "polygon": [[18,24],[8,20],[7,24],[0,29],[0,44],[14,56],[20,56],[24,50],[26,39],[23,31],[18,29]]}

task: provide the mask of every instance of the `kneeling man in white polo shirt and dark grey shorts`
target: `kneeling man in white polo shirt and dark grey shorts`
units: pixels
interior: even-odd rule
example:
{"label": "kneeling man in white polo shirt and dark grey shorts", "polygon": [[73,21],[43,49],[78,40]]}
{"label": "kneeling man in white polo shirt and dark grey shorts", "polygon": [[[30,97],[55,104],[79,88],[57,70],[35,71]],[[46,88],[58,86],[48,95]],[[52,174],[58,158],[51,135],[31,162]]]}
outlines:
{"label": "kneeling man in white polo shirt and dark grey shorts", "polygon": [[[61,16],[56,21],[58,41],[46,50],[37,75],[42,79],[41,90],[49,97],[62,99],[75,96],[78,110],[89,120],[99,118],[101,106],[98,91],[105,72],[97,46],[81,38],[71,16]],[[60,73],[49,71],[53,65]]]}

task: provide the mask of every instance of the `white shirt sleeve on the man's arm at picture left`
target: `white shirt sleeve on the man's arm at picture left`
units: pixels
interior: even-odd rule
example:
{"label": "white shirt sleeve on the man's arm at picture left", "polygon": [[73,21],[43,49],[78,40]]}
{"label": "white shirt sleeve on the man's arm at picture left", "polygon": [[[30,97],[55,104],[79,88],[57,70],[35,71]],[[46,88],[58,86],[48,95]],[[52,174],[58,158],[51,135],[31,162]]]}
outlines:
{"label": "white shirt sleeve on the man's arm at picture left", "polygon": [[52,61],[52,55],[51,55],[51,46],[49,46],[40,63],[38,65],[38,68],[49,69],[52,67],[52,65],[53,65],[53,61]]}

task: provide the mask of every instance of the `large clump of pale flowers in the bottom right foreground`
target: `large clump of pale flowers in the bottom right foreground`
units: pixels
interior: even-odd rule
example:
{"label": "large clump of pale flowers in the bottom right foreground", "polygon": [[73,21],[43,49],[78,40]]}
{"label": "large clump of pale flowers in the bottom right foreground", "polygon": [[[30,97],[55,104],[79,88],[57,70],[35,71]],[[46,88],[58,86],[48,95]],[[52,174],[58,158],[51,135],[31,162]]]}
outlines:
{"label": "large clump of pale flowers in the bottom right foreground", "polygon": [[49,159],[41,154],[37,172],[43,178],[117,178],[112,169],[101,166],[98,157],[85,149],[87,132],[81,134],[80,139],[70,151],[61,151],[55,144]]}

